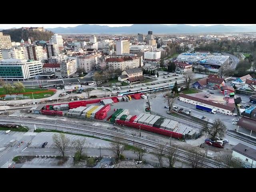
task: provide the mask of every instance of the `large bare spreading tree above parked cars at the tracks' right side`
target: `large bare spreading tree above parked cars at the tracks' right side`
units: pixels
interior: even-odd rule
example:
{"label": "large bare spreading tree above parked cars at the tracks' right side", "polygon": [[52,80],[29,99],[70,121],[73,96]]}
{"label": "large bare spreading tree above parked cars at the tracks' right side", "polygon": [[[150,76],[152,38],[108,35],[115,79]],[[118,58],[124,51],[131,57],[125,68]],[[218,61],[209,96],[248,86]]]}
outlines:
{"label": "large bare spreading tree above parked cars at the tracks' right side", "polygon": [[216,137],[223,138],[227,132],[227,127],[219,118],[217,118],[214,119],[213,125],[206,122],[202,132],[208,135],[211,139]]}

